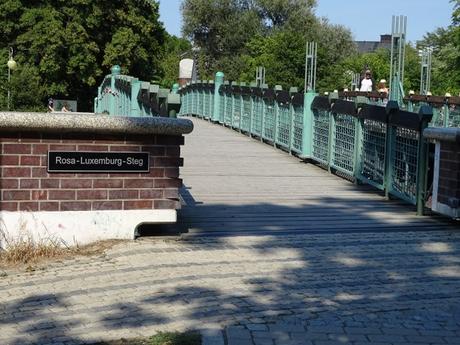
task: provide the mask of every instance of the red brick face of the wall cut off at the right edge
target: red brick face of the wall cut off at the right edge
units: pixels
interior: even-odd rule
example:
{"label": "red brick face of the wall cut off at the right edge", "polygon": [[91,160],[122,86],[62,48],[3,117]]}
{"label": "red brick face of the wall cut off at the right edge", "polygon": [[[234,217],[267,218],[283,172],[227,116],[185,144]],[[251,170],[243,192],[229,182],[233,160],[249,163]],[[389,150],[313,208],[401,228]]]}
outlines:
{"label": "red brick face of the wall cut off at the right edge", "polygon": [[449,198],[460,199],[460,145],[441,142],[438,202],[448,205]]}

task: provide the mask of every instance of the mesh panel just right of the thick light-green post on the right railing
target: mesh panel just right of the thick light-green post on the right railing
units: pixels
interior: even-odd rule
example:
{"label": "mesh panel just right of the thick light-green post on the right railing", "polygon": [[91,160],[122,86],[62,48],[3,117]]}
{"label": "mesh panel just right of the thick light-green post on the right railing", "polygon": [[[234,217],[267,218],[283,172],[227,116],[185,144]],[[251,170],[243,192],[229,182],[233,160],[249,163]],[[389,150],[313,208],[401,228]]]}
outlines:
{"label": "mesh panel just right of the thick light-green post on the right railing", "polygon": [[329,112],[323,109],[313,111],[313,158],[328,164]]}

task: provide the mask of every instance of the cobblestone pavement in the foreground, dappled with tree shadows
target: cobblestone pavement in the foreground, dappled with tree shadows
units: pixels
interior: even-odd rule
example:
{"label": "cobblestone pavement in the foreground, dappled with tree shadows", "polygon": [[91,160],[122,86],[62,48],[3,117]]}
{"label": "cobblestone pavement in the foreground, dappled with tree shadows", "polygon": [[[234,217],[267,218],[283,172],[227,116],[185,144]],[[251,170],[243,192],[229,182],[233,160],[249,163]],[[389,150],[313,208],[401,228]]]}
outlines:
{"label": "cobblestone pavement in the foreground, dappled with tree shadows", "polygon": [[131,241],[3,275],[0,343],[459,344],[459,252],[433,231]]}

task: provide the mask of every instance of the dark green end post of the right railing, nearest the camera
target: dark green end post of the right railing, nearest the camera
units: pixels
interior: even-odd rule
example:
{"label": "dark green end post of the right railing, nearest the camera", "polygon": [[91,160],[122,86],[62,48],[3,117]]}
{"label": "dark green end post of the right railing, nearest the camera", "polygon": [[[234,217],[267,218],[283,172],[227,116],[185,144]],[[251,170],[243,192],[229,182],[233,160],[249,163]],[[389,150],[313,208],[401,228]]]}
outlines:
{"label": "dark green end post of the right railing, nearest the camera", "polygon": [[423,131],[428,127],[428,123],[433,117],[433,109],[422,106],[419,114],[421,116],[419,142],[418,142],[418,161],[417,161],[417,215],[423,216],[425,209],[426,187],[428,179],[428,144],[423,138]]}

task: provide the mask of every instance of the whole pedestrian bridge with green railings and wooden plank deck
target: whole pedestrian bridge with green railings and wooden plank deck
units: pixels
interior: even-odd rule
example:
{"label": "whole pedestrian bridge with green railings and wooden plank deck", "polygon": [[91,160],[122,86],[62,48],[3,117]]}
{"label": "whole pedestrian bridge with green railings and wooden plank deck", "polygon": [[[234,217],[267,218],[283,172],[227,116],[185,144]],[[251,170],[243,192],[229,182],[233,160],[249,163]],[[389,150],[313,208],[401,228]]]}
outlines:
{"label": "whole pedestrian bridge with green railings and wooden plank deck", "polygon": [[167,91],[115,71],[95,112],[193,120],[181,154],[179,223],[188,236],[458,226],[421,216],[432,209],[458,217],[459,184],[441,176],[459,164],[457,129],[442,156],[423,133],[459,127],[459,97],[319,96],[230,83],[220,72]]}

